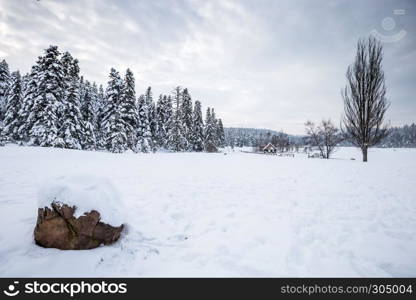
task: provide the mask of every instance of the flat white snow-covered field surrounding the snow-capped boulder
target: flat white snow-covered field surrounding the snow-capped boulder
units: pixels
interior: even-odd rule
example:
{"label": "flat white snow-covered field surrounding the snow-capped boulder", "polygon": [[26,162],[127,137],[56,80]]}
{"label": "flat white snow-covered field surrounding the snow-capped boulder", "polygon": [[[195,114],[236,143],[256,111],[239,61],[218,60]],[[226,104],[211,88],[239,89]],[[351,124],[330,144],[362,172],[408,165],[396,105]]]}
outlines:
{"label": "flat white snow-covered field surrounding the snow-capped boulder", "polygon": [[[0,147],[0,276],[416,276],[416,150],[335,157]],[[56,178],[117,189],[122,240],[36,246]]]}

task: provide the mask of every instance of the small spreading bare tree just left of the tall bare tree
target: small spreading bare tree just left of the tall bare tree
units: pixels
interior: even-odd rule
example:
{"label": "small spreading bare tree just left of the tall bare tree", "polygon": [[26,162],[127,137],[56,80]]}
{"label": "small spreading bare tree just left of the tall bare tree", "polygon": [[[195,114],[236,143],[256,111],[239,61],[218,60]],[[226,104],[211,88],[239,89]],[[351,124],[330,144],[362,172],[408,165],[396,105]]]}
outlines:
{"label": "small spreading bare tree just left of the tall bare tree", "polygon": [[309,136],[309,143],[316,146],[323,158],[330,158],[335,147],[343,140],[338,128],[334,126],[330,119],[322,120],[321,124],[308,121],[305,123],[306,134]]}

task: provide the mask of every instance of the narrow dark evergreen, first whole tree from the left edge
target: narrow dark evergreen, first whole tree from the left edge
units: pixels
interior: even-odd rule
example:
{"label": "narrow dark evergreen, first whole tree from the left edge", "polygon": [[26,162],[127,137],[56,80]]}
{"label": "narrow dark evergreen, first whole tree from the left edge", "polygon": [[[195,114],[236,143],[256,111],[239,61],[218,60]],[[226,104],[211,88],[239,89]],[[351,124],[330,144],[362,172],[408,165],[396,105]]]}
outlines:
{"label": "narrow dark evergreen, first whole tree from the left edge", "polygon": [[7,94],[6,113],[4,116],[4,134],[11,140],[20,140],[18,129],[20,127],[19,111],[22,107],[22,78],[19,71],[11,75],[11,84]]}

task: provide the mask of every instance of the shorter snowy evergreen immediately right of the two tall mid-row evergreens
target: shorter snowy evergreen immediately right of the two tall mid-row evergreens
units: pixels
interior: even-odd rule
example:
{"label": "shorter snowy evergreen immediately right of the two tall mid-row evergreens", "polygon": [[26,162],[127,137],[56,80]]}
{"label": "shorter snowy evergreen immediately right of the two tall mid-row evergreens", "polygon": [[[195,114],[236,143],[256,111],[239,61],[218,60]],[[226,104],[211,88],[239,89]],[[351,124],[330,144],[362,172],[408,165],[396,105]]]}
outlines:
{"label": "shorter snowy evergreen immediately right of the two tall mid-row evergreens", "polygon": [[137,151],[148,153],[152,151],[152,133],[150,131],[149,124],[149,109],[147,106],[146,97],[140,95],[138,101],[138,112],[139,112],[139,127],[137,132]]}

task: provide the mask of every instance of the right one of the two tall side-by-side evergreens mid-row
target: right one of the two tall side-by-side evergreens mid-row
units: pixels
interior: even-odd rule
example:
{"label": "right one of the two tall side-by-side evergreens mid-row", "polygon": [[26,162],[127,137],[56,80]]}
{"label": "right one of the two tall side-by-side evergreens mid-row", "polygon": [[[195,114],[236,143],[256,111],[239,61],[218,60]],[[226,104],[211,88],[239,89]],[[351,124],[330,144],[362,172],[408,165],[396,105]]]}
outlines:
{"label": "right one of the two tall side-by-side evergreens mid-row", "polygon": [[136,150],[139,114],[136,103],[134,76],[130,69],[127,69],[124,78],[124,92],[120,112],[125,125],[127,145],[130,149]]}

